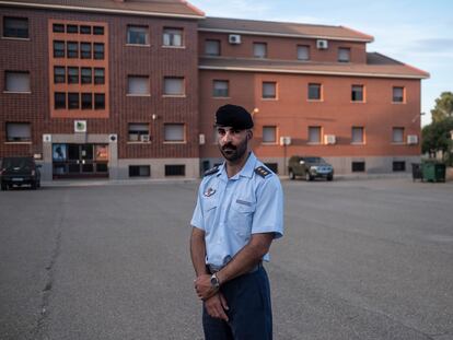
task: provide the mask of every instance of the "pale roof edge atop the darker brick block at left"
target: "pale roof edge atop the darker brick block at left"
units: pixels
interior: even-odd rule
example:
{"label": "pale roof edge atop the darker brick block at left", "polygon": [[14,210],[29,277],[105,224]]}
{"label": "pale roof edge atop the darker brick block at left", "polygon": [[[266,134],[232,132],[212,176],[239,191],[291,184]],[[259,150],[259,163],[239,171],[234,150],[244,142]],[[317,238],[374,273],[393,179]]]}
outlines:
{"label": "pale roof edge atop the darker brick block at left", "polygon": [[62,11],[95,12],[95,13],[108,13],[108,14],[131,14],[131,15],[144,15],[144,16],[184,17],[184,19],[197,19],[197,20],[205,17],[205,15],[201,15],[201,14],[191,15],[191,14],[177,14],[177,13],[164,13],[164,12],[114,10],[114,9],[103,9],[103,8],[84,8],[84,7],[67,5],[67,4],[20,3],[20,2],[13,2],[13,1],[0,1],[0,5],[35,8],[35,9],[54,9],[54,10],[62,10]]}

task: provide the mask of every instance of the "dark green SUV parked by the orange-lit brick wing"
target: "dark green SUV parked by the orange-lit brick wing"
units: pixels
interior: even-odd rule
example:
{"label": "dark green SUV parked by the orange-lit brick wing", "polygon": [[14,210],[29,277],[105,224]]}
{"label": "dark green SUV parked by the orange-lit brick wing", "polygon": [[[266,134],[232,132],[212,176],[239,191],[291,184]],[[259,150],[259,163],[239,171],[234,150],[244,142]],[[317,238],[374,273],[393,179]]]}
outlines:
{"label": "dark green SUV parked by the orange-lit brick wing", "polygon": [[288,164],[288,174],[290,179],[297,176],[303,176],[306,180],[314,178],[334,179],[334,167],[316,156],[292,156]]}

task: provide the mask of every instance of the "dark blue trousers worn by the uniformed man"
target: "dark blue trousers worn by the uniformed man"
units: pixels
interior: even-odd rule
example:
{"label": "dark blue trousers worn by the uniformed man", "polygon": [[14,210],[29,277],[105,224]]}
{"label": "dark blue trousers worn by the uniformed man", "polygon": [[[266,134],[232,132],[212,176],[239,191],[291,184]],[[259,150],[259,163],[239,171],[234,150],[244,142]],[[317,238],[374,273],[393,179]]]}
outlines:
{"label": "dark blue trousers worn by the uniformed man", "polygon": [[212,318],[202,310],[206,340],[271,340],[272,310],[269,279],[263,266],[221,286],[230,307],[229,321]]}

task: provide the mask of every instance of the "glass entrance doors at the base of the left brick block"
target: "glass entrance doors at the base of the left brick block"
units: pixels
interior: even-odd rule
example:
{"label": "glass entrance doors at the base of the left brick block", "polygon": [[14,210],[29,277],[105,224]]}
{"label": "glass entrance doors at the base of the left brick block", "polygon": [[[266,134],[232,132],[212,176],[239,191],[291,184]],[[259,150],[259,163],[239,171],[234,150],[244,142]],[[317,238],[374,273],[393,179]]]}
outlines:
{"label": "glass entrance doors at the base of the left brick block", "polygon": [[53,144],[54,178],[108,177],[107,144]]}

